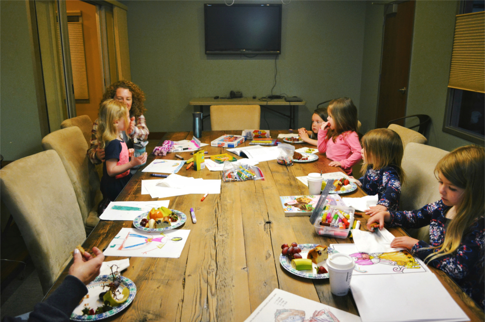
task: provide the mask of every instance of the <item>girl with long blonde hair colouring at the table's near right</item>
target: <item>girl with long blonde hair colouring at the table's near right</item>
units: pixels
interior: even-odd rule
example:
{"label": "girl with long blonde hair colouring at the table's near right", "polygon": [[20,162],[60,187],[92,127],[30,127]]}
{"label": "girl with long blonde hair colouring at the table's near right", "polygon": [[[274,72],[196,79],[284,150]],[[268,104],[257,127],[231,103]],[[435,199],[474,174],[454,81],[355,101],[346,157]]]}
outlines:
{"label": "girl with long blonde hair colouring at the table's near right", "polygon": [[441,200],[413,211],[381,211],[367,222],[419,228],[429,226],[430,244],[403,236],[391,247],[405,247],[439,268],[482,308],[484,299],[485,150],[459,147],[436,164]]}

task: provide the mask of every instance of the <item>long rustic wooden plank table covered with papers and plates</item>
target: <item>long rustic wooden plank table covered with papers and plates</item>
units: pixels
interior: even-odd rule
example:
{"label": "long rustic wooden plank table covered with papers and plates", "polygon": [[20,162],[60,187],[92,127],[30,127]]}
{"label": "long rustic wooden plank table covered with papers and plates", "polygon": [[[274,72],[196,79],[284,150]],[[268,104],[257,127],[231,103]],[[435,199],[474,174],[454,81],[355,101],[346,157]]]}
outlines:
{"label": "long rustic wooden plank table covered with papers and plates", "polygon": [[[282,131],[272,130],[272,135],[276,137],[279,132]],[[210,143],[223,134],[240,133],[202,132],[201,142]],[[160,144],[164,140],[184,139],[192,139],[192,132],[167,133]],[[301,146],[308,145],[296,145]],[[221,147],[205,149],[209,155],[225,151]],[[188,152],[180,154],[186,160],[190,158]],[[319,157],[316,162],[295,163],[291,167],[276,161],[260,162],[264,181],[223,182],[221,193],[209,194],[203,202],[201,195],[195,194],[169,198],[171,209],[189,214],[192,207],[197,217],[197,223],[193,224],[189,215],[186,223],[178,228],[191,230],[180,258],[130,258],[130,266],[123,275],[135,282],[136,297],[126,310],[105,321],[244,321],[275,288],[358,315],[350,292],[347,296],[335,296],[330,292],[328,279],[300,278],[279,264],[280,246],[285,242],[325,245],[352,242],[319,236],[308,217],[285,217],[282,210],[279,196],[308,193],[308,188],[295,177],[310,172],[341,171],[327,166],[329,161],[322,154]],[[149,156],[147,164],[154,158]],[[169,154],[162,159],[173,158]],[[178,174],[204,179],[220,179],[222,175],[185,167]],[[153,200],[150,195],[141,194],[141,180],[151,178],[148,173],[138,171],[117,201]],[[364,195],[360,188],[348,194]],[[362,229],[367,218],[364,215],[361,219]],[[132,227],[132,222],[101,221],[82,246],[104,249],[122,227]],[[395,236],[405,235],[401,228],[389,230]],[[105,260],[114,259],[120,258]],[[53,289],[64,280],[69,266]],[[484,321],[483,311],[451,278],[440,270],[432,271],[471,321]]]}

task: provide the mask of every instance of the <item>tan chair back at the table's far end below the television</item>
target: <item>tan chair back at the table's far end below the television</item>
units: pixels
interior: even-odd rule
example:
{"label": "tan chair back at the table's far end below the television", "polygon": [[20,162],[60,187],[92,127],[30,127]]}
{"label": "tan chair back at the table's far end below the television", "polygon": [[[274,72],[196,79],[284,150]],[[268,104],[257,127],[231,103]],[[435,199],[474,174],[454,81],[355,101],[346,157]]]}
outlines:
{"label": "tan chair back at the table's far end below the television", "polygon": [[259,129],[259,105],[211,105],[210,128],[213,131]]}

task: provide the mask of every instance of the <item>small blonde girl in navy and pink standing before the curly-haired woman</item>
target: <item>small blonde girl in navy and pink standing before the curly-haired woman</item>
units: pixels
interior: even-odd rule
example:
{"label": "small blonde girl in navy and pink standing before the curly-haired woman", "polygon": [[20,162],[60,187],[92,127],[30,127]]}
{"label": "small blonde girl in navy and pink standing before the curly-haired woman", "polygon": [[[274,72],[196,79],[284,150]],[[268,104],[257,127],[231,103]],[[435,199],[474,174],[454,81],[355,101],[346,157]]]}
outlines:
{"label": "small blonde girl in navy and pink standing before the curly-haired woman", "polygon": [[133,157],[134,149],[128,149],[121,137],[121,131],[128,128],[128,116],[127,105],[115,99],[107,99],[99,107],[97,141],[106,156],[101,192],[109,201],[114,201],[128,183],[131,178],[129,169],[146,162],[146,153]]}

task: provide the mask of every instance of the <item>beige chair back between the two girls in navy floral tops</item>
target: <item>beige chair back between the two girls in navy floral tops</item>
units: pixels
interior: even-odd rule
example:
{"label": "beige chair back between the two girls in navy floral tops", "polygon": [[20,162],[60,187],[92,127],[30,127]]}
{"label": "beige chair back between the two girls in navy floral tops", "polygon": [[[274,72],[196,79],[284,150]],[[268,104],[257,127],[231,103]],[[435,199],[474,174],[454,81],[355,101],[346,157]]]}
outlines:
{"label": "beige chair back between the two girls in navy floral tops", "polygon": [[[420,209],[440,199],[435,167],[447,154],[448,151],[434,146],[413,142],[406,145],[401,163],[406,180],[401,188],[399,210]],[[418,229],[407,229],[407,232],[416,239],[429,242],[429,225]]]}

